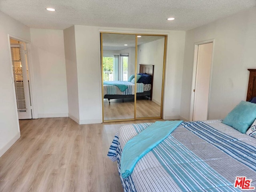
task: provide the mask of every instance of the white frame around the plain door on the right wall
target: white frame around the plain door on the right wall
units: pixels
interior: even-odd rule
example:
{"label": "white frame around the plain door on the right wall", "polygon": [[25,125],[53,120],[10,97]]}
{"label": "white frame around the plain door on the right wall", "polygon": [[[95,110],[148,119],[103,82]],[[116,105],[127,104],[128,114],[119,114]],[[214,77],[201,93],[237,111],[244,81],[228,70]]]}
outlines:
{"label": "white frame around the plain door on the right wall", "polygon": [[[211,70],[210,70],[210,84],[209,84],[209,98],[210,98],[210,90],[211,90],[211,85],[212,85],[212,68],[213,68],[213,59],[214,59],[214,45],[215,45],[215,40],[210,39],[210,40],[205,40],[205,41],[200,41],[194,43],[194,62],[193,62],[193,72],[192,72],[192,85],[191,85],[191,98],[190,98],[190,116],[189,120],[193,120],[193,111],[194,111],[194,98],[195,98],[195,92],[194,89],[196,87],[196,68],[197,68],[197,58],[198,58],[198,46],[206,43],[212,43],[212,60],[211,60]],[[209,109],[209,103],[210,100],[208,100],[208,109]],[[208,118],[208,112],[207,110],[207,118]]]}

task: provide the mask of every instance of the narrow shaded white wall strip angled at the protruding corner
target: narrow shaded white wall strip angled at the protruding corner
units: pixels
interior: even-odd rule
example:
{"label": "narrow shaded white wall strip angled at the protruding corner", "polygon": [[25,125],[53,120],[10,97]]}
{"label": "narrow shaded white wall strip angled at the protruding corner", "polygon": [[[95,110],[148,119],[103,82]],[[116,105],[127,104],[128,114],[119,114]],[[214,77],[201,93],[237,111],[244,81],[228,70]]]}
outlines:
{"label": "narrow shaded white wall strip angled at the protruding corner", "polygon": [[76,42],[74,26],[67,28],[64,33],[64,50],[66,60],[66,79],[68,90],[68,116],[79,123],[78,102],[78,71],[76,66]]}

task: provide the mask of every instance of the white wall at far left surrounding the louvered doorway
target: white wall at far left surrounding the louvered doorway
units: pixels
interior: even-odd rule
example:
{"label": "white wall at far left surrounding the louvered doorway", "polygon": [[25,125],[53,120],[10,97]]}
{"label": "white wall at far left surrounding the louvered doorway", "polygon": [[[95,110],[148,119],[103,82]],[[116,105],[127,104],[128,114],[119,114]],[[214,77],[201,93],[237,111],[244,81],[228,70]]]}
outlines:
{"label": "white wall at far left surrounding the louvered doorway", "polygon": [[11,83],[13,76],[8,34],[30,41],[27,26],[0,12],[0,156],[20,137],[14,84]]}

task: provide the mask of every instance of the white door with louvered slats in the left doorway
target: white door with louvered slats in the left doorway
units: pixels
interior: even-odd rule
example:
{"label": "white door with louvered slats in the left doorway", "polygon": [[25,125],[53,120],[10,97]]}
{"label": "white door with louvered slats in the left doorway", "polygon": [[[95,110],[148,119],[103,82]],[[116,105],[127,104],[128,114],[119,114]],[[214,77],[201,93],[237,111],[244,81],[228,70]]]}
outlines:
{"label": "white door with louvered slats in the left doorway", "polygon": [[28,69],[28,57],[24,44],[11,44],[12,68],[19,119],[32,119]]}

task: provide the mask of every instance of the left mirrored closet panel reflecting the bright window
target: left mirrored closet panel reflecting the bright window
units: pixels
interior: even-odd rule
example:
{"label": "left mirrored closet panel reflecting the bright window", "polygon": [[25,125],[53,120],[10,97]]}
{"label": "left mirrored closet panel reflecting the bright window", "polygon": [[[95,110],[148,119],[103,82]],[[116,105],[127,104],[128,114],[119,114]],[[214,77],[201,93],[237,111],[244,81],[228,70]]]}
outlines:
{"label": "left mirrored closet panel reflecting the bright window", "polygon": [[102,33],[104,120],[134,119],[135,38]]}

